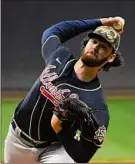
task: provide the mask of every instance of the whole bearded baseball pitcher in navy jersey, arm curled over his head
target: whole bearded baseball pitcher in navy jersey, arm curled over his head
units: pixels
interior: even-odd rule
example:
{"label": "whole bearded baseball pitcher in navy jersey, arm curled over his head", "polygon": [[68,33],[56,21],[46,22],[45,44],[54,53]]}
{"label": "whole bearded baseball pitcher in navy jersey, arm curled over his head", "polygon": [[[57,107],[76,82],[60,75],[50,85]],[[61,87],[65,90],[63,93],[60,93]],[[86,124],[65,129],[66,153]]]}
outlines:
{"label": "whole bearded baseball pitcher in navy jersey, arm curled over his head", "polygon": [[[124,22],[124,19],[121,18]],[[101,147],[109,111],[100,70],[121,66],[117,17],[57,23],[43,33],[45,68],[15,109],[5,139],[5,163],[87,163]],[[91,30],[80,58],[63,43]]]}

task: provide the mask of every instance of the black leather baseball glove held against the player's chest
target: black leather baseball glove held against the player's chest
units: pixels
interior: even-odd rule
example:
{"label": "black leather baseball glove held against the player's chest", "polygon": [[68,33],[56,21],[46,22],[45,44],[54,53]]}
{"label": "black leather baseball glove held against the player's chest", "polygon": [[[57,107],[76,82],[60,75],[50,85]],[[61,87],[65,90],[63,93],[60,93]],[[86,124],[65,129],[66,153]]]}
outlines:
{"label": "black leather baseball glove held against the player's chest", "polygon": [[73,120],[77,116],[88,124],[92,121],[90,112],[91,108],[77,98],[66,98],[54,109],[60,120]]}

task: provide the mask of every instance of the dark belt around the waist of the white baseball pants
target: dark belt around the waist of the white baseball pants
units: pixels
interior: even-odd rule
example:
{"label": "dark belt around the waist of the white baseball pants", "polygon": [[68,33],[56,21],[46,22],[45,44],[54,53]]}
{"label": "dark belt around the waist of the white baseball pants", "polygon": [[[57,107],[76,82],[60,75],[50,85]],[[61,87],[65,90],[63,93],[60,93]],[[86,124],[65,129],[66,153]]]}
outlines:
{"label": "dark belt around the waist of the white baseball pants", "polygon": [[36,143],[32,139],[28,138],[25,135],[25,133],[19,129],[19,127],[16,125],[16,123],[15,123],[14,120],[11,122],[11,125],[12,125],[14,131],[17,131],[18,130],[17,134],[19,134],[19,137],[21,137],[25,141],[29,142],[30,144],[32,144],[36,148],[46,148],[47,146],[49,146],[52,143],[51,141],[47,141],[45,143]]}

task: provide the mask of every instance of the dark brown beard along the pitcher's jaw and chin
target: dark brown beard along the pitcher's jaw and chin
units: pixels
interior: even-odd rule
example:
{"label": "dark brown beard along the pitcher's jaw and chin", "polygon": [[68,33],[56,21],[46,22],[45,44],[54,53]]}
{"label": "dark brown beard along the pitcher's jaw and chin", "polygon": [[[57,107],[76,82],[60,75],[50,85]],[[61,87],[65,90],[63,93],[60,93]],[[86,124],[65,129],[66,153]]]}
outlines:
{"label": "dark brown beard along the pitcher's jaw and chin", "polygon": [[105,57],[103,59],[93,59],[91,57],[86,56],[85,54],[83,54],[81,56],[81,61],[83,62],[84,65],[88,66],[88,67],[99,67],[101,66],[106,60],[108,59],[108,57]]}

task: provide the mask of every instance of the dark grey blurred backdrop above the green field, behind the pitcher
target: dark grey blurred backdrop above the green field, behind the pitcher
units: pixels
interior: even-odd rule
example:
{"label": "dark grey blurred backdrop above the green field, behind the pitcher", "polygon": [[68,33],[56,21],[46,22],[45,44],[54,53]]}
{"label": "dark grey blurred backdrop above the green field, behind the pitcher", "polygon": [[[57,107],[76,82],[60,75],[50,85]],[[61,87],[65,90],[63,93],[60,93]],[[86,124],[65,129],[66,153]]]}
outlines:
{"label": "dark grey blurred backdrop above the green field, behind the pitcher", "polygon": [[[125,32],[120,51],[126,65],[100,72],[105,89],[135,89],[135,1],[2,1],[2,91],[27,90],[44,68],[41,36],[49,26],[64,20],[122,16]],[[66,43],[75,56],[86,34]]]}

